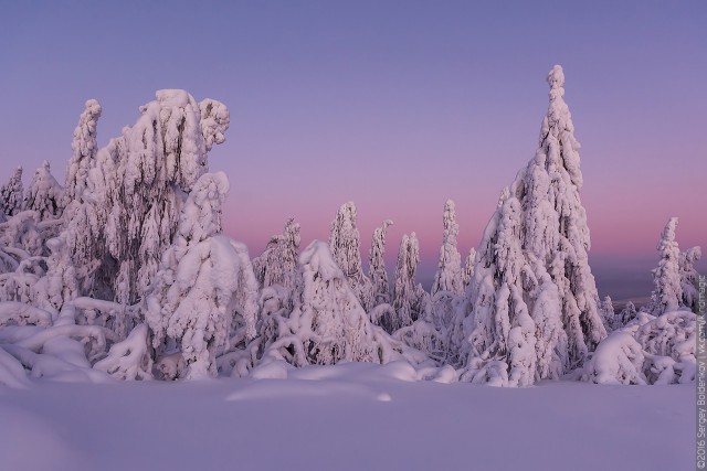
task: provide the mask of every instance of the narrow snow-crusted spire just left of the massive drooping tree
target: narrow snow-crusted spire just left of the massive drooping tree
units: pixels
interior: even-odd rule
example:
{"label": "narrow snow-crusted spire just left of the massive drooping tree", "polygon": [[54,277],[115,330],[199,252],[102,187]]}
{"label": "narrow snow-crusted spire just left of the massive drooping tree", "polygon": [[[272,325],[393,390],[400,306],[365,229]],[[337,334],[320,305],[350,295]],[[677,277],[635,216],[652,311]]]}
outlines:
{"label": "narrow snow-crusted spire just left of the massive drooping tree", "polygon": [[74,129],[74,139],[71,142],[73,156],[66,168],[66,197],[78,200],[86,188],[88,170],[95,164],[98,143],[96,141],[96,125],[101,117],[101,105],[95,99],[89,99],[84,106],[84,111],[78,118],[78,125]]}

